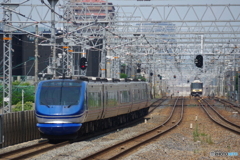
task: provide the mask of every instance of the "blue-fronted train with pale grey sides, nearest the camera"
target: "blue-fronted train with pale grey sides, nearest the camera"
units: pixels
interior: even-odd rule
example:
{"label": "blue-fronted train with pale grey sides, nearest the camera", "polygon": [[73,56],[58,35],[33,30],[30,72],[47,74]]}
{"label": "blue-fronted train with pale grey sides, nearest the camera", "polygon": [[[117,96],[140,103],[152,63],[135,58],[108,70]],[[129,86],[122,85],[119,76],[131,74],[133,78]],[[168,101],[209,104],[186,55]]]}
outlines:
{"label": "blue-fronted train with pale grey sides, nearest the camera", "polygon": [[41,137],[69,139],[110,128],[146,115],[154,102],[147,82],[94,79],[39,82],[35,114]]}

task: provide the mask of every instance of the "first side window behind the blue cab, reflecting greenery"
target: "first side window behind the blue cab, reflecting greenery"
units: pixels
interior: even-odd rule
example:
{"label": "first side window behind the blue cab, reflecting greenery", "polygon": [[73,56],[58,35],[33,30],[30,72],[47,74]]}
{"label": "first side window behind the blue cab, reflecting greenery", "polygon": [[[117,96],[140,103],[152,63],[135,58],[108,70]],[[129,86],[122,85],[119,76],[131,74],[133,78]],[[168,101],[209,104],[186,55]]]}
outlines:
{"label": "first side window behind the blue cab, reflecting greenery", "polygon": [[88,92],[88,107],[101,107],[101,96],[99,92]]}

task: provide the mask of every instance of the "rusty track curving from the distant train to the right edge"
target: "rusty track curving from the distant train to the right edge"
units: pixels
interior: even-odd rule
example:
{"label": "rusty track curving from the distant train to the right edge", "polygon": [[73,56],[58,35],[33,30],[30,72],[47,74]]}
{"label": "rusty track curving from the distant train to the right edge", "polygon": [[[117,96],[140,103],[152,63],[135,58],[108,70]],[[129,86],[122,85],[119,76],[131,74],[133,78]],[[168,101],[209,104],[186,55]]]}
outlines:
{"label": "rusty track curving from the distant train to the right edge", "polygon": [[[212,119],[215,123],[233,132],[236,132],[238,134],[240,133],[239,125],[234,124],[233,122],[227,120],[222,115],[220,115],[206,100],[201,99],[198,102],[201,104],[201,107],[207,113],[209,118]],[[207,107],[203,103],[207,104]]]}

